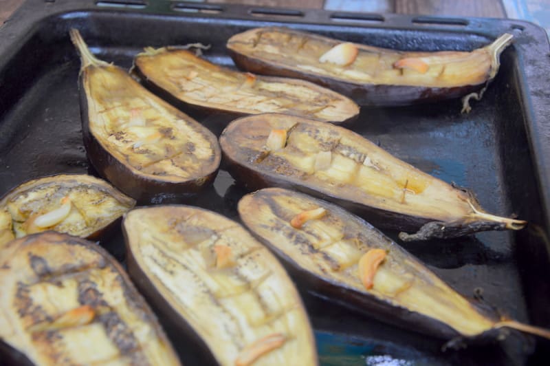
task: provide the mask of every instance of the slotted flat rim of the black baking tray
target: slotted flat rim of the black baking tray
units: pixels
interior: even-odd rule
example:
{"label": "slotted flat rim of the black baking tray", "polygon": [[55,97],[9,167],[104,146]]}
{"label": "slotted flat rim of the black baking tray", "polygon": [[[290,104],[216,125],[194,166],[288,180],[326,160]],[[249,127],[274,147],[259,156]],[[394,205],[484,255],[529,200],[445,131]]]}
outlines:
{"label": "slotted flat rim of the black baking tray", "polygon": [[[124,0],[120,0],[122,3]],[[139,1],[139,0],[138,0]],[[135,2],[135,1],[133,1]],[[550,85],[550,47],[548,35],[544,29],[528,21],[511,19],[472,18],[472,17],[425,17],[402,14],[377,14],[377,13],[345,13],[327,10],[301,10],[303,17],[290,17],[289,19],[270,17],[254,17],[251,15],[257,9],[276,9],[277,12],[289,8],[267,8],[257,6],[244,6],[236,4],[223,4],[223,11],[219,14],[186,13],[173,10],[174,4],[184,4],[196,7],[195,2],[157,0],[162,6],[152,7],[146,4],[144,8],[98,8],[94,0],[26,0],[23,5],[12,14],[2,27],[0,27],[0,87],[2,87],[1,71],[8,65],[14,54],[17,54],[25,40],[29,39],[43,21],[55,17],[72,17],[75,14],[88,12],[117,12],[120,14],[137,14],[160,17],[183,17],[208,19],[236,19],[246,21],[257,21],[259,23],[303,23],[308,25],[330,25],[344,28],[378,28],[391,30],[416,30],[426,32],[448,32],[450,34],[475,34],[487,38],[496,36],[505,30],[514,32],[518,42],[513,44],[520,64],[525,65],[523,69],[517,69],[518,91],[520,102],[525,116],[525,132],[529,143],[529,151],[533,161],[533,173],[537,178],[538,194],[542,208],[544,228],[547,238],[550,237],[550,105],[547,105],[547,98],[544,92],[547,85]],[[382,19],[372,23],[346,22],[340,23],[331,21],[332,14],[353,14],[365,17]],[[415,23],[418,19],[426,20],[426,23]],[[433,23],[435,22],[435,23]],[[465,22],[465,23],[464,23]],[[520,29],[522,28],[522,29]],[[522,40],[536,39],[536,44],[525,44]],[[534,50],[533,50],[534,48]],[[527,50],[529,49],[529,52]],[[541,55],[540,58],[533,58],[533,54]],[[548,92],[546,92],[548,94]],[[545,253],[550,259],[550,242],[545,241]],[[528,314],[529,316],[529,314]],[[530,316],[529,316],[530,317]]]}

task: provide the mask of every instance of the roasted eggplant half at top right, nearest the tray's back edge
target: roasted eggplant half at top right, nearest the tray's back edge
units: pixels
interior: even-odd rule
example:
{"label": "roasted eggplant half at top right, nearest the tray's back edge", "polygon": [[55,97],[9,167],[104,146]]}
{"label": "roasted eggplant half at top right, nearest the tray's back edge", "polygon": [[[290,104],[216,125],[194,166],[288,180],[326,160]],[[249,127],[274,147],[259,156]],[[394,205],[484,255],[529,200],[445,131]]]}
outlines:
{"label": "roasted eggplant half at top right, nearest the tray's back edge", "polygon": [[274,27],[235,34],[227,47],[241,69],[303,78],[359,105],[407,105],[465,96],[464,110],[469,111],[468,100],[481,98],[511,39],[511,34],[503,34],[472,52],[404,52]]}

